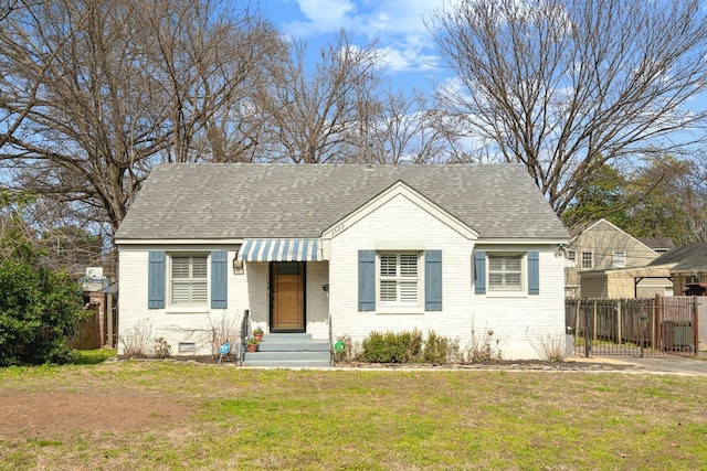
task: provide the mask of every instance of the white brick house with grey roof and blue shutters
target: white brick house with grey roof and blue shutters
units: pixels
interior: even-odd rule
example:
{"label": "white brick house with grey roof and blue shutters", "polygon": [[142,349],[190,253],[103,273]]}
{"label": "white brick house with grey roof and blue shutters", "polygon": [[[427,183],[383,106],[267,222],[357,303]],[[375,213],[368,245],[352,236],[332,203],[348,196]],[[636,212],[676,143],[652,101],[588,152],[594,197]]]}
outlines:
{"label": "white brick house with grey roof and blue shutters", "polygon": [[[211,353],[250,310],[318,339],[564,334],[568,234],[523,165],[163,164],[116,234],[119,334]],[[120,351],[120,347],[119,347]]]}

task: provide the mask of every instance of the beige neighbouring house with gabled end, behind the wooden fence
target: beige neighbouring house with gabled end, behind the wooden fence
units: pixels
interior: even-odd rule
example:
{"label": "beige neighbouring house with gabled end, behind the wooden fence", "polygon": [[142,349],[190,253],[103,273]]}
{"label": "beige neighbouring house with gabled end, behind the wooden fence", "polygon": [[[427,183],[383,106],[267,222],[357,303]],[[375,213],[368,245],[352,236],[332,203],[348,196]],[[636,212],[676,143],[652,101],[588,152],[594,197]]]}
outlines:
{"label": "beige neighbouring house with gabled end, behind the wooden fence", "polygon": [[[662,247],[663,239],[651,239]],[[606,220],[572,232],[567,244],[568,298],[646,298],[672,295],[665,267],[646,267],[658,253]]]}

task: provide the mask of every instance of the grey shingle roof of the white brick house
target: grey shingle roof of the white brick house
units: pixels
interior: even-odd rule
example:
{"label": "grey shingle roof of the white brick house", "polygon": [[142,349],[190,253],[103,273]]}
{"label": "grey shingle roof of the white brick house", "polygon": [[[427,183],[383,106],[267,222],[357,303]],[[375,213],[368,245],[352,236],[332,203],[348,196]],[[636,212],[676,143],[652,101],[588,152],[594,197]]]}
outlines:
{"label": "grey shingle roof of the white brick house", "polygon": [[116,239],[318,237],[398,181],[483,238],[567,239],[524,165],[162,164]]}

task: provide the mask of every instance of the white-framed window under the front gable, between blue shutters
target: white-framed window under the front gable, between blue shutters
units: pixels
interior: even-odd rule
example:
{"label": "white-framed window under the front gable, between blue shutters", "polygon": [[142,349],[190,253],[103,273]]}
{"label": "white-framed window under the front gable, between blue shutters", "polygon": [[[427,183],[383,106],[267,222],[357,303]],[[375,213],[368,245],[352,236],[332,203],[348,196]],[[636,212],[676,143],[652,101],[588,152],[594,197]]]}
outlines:
{"label": "white-framed window under the front gable, between blue shutters", "polygon": [[420,298],[420,255],[380,254],[379,300],[382,306],[416,306]]}

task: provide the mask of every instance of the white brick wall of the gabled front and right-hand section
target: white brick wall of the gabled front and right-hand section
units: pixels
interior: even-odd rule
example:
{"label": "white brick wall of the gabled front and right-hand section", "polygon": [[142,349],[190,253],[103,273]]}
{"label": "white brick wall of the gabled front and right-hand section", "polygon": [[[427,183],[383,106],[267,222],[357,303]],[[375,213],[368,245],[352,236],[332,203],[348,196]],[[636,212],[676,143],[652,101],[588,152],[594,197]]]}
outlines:
{"label": "white brick wall of the gabled front and right-hand section", "polygon": [[[422,239],[424,249],[442,249],[442,311],[358,311],[358,250],[374,249],[376,239]],[[395,196],[331,240],[329,308],[335,336],[346,334],[360,342],[371,331],[418,329],[425,334],[433,330],[466,346],[472,329],[477,334],[493,330],[492,338],[504,357],[538,357],[541,336],[564,333],[563,260],[555,256],[555,247],[511,248],[540,251],[540,295],[477,296],[473,289],[473,240],[404,196]]]}

